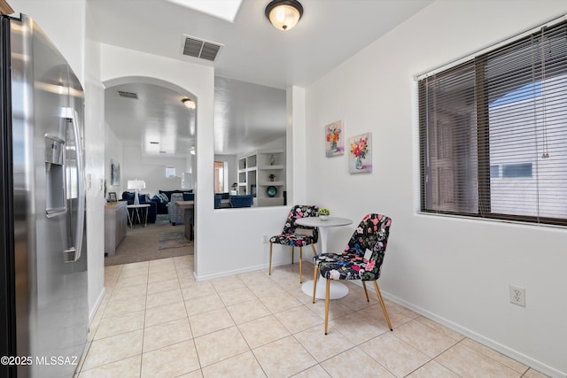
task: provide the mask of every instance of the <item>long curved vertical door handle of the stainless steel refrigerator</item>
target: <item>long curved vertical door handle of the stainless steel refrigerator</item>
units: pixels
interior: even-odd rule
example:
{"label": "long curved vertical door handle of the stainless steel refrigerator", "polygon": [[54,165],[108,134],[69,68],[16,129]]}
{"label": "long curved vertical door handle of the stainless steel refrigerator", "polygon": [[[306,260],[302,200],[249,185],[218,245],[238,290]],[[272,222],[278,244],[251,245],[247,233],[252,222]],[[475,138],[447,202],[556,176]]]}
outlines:
{"label": "long curved vertical door handle of the stainless steel refrigerator", "polygon": [[65,118],[71,122],[73,126],[73,135],[75,141],[75,155],[77,160],[77,222],[74,246],[64,253],[65,262],[74,262],[81,258],[82,234],[85,224],[85,183],[84,183],[84,166],[82,164],[82,143],[79,134],[78,118],[79,114],[73,108],[61,108],[61,118]]}

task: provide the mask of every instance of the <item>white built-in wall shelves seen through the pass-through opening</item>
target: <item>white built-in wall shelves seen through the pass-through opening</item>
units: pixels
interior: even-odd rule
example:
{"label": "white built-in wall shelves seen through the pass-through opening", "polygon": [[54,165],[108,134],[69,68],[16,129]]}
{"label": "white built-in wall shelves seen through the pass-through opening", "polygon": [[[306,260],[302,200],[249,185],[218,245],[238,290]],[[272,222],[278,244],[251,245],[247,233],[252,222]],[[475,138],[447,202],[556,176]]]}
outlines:
{"label": "white built-in wall shelves seen through the pass-through opening", "polygon": [[[275,176],[274,181],[270,181],[270,174]],[[238,194],[255,193],[258,206],[283,204],[285,181],[283,150],[258,150],[238,158]],[[274,197],[268,197],[270,186],[277,189]]]}

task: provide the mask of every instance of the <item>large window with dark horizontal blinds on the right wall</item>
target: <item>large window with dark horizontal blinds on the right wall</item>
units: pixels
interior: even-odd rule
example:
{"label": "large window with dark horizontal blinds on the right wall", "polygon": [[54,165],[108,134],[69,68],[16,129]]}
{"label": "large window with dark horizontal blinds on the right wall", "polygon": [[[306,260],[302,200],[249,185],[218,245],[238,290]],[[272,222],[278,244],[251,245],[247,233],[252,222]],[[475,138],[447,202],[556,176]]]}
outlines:
{"label": "large window with dark horizontal blinds on the right wall", "polygon": [[418,90],[423,212],[567,225],[567,21]]}

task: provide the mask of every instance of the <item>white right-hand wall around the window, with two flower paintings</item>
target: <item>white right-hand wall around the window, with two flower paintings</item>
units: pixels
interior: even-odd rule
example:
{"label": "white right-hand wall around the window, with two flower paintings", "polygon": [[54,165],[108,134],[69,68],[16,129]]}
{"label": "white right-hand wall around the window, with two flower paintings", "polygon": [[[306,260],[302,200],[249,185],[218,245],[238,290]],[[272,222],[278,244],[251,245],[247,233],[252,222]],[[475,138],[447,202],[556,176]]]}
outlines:
{"label": "white right-hand wall around the window, with two flower paintings", "polygon": [[[306,89],[307,201],[355,223],[392,217],[384,296],[553,376],[567,374],[567,231],[416,212],[413,76],[565,12],[564,1],[438,1]],[[371,174],[325,157],[335,120],[347,137],[372,132]],[[333,230],[330,246],[354,227]],[[510,283],[526,289],[525,308],[509,303]]]}

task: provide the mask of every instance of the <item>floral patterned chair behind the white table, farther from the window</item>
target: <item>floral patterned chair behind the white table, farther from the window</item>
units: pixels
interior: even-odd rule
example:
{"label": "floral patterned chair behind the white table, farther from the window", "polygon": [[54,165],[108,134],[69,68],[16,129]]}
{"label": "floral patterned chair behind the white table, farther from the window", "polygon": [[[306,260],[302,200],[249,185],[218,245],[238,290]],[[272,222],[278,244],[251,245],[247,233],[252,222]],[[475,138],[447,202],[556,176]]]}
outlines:
{"label": "floral patterned chair behind the white table, farther from the window", "polygon": [[[318,206],[311,206],[311,205],[295,205],[291,208],[291,212],[287,215],[287,220],[285,220],[285,224],[283,225],[283,231],[281,234],[275,235],[270,237],[269,239],[269,274],[272,274],[272,246],[274,243],[282,244],[282,245],[289,245],[291,246],[291,264],[293,264],[293,250],[295,247],[299,247],[299,283],[303,281],[302,273],[301,273],[301,262],[303,259],[303,246],[311,244],[311,248],[313,249],[313,254],[316,255],[317,252],[315,251],[315,243],[319,240],[319,229],[312,228],[312,227],[304,227],[299,226],[295,223],[295,220],[299,220],[299,218],[306,218],[306,217],[317,217],[319,216],[317,212],[319,211]],[[300,231],[307,231],[310,232],[310,235],[307,235],[307,232],[300,232]]]}

